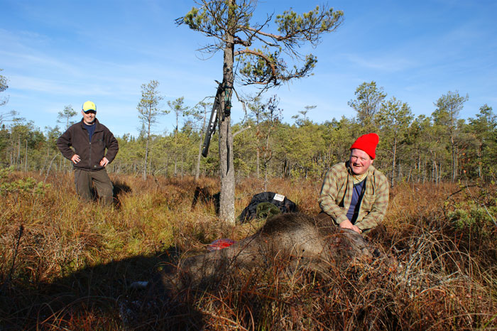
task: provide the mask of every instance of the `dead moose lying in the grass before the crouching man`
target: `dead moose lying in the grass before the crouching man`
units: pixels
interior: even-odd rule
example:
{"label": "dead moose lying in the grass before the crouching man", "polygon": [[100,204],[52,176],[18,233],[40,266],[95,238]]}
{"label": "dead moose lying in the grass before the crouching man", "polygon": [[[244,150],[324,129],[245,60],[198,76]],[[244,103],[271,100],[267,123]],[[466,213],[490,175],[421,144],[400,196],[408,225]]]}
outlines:
{"label": "dead moose lying in the grass before the crouching man", "polygon": [[258,231],[225,249],[191,256],[180,261],[173,272],[162,273],[155,285],[169,290],[212,283],[233,268],[267,268],[283,265],[286,271],[310,270],[329,276],[332,266],[354,259],[378,256],[364,237],[333,224],[320,224],[317,217],[300,213],[280,214]]}

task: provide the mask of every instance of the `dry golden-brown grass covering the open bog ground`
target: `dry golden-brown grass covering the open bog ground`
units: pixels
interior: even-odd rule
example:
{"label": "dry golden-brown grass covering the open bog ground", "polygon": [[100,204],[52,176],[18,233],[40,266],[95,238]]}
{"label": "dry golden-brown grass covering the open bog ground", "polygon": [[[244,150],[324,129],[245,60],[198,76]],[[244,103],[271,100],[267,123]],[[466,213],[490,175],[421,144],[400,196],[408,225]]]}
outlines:
{"label": "dry golden-brown grass covering the open bog ground", "polygon": [[[28,176],[44,180],[35,173],[4,180]],[[246,237],[262,221],[226,227],[212,200],[192,207],[192,178],[111,178],[123,189],[115,207],[78,200],[68,174],[48,178],[50,187],[37,193],[0,192],[0,330],[497,328],[496,188],[394,188],[384,227],[369,239],[397,268],[381,259],[356,262],[321,279],[275,264],[234,270],[202,291],[144,298],[130,283],[215,239]],[[275,179],[268,188],[313,215],[320,182]],[[209,195],[219,191],[211,178],[201,186]],[[238,183],[236,212],[263,187],[253,179]],[[126,308],[132,313],[124,322]]]}

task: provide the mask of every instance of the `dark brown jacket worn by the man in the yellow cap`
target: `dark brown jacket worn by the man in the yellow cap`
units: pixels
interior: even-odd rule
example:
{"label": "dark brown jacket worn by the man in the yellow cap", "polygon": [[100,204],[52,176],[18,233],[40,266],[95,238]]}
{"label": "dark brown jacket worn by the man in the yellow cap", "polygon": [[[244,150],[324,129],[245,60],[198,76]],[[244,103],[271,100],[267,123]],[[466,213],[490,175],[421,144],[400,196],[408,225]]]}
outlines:
{"label": "dark brown jacket worn by the man in the yellow cap", "polygon": [[[79,155],[81,161],[77,164],[72,163],[75,168],[83,170],[101,170],[100,161],[104,156],[112,162],[119,151],[119,144],[107,126],[100,124],[95,119],[95,131],[92,141],[89,141],[87,129],[84,129],[83,121],[73,124],[67,129],[62,136],[57,139],[57,147],[62,155],[71,159],[75,154]],[[74,151],[70,148],[74,148]],[[107,153],[106,153],[107,148]]]}

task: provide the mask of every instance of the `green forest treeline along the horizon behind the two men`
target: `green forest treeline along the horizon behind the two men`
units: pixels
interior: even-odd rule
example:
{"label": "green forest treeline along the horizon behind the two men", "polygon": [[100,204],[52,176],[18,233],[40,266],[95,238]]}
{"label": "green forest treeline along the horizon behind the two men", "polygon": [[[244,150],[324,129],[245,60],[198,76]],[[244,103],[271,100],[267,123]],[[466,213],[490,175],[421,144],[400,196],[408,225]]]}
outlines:
{"label": "green forest treeline along the horizon behind the two men", "polygon": [[[246,100],[246,119],[233,129],[236,177],[322,178],[327,168],[346,160],[349,146],[359,135],[375,131],[380,136],[375,165],[392,185],[402,181],[492,181],[497,170],[496,114],[484,104],[474,118],[461,119],[467,99],[457,91],[447,92],[434,102],[431,116],[415,117],[409,104],[387,98],[376,82],[364,82],[349,102],[355,116],[321,124],[310,119],[312,105],[293,116],[295,124],[288,124],[280,120],[283,109],[278,108],[277,96]],[[143,110],[141,105],[143,98],[138,110]],[[139,116],[141,133],[116,137],[119,153],[109,170],[134,175],[218,175],[217,134],[207,158],[200,156],[212,104],[199,102],[189,108],[180,98],[168,106],[170,109],[162,112],[174,112],[175,129],[152,134],[155,118]],[[70,161],[62,158],[55,142],[78,120],[79,112],[67,106],[54,119],[57,125],[42,130],[18,112],[0,112],[1,167],[40,173],[70,170]],[[112,130],[112,124],[106,124]]]}

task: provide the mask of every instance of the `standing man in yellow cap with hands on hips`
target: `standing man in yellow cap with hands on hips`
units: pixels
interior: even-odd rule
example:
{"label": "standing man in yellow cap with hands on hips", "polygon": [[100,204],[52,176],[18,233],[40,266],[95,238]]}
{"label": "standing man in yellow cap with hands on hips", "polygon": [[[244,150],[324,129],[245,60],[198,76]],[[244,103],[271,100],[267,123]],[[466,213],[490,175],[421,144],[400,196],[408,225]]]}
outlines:
{"label": "standing man in yellow cap with hands on hips", "polygon": [[97,107],[93,102],[84,102],[81,114],[82,120],[59,137],[57,146],[62,156],[73,163],[77,194],[85,200],[92,200],[94,183],[100,202],[111,205],[113,186],[105,166],[114,160],[119,145],[107,126],[95,118]]}

